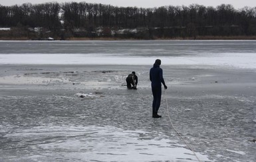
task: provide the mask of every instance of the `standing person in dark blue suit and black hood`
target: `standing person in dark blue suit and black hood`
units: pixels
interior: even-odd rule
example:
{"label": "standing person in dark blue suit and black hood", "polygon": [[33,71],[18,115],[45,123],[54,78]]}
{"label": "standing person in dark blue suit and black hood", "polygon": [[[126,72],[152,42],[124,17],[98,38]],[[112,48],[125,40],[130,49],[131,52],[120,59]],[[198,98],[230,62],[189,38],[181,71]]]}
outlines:
{"label": "standing person in dark blue suit and black hood", "polygon": [[162,96],[162,84],[164,85],[164,89],[167,89],[166,83],[164,82],[163,70],[160,68],[161,60],[157,59],[154,63],[154,66],[150,69],[150,81],[151,88],[153,93],[153,118],[161,118],[162,116],[158,115],[158,109],[161,104],[161,96]]}

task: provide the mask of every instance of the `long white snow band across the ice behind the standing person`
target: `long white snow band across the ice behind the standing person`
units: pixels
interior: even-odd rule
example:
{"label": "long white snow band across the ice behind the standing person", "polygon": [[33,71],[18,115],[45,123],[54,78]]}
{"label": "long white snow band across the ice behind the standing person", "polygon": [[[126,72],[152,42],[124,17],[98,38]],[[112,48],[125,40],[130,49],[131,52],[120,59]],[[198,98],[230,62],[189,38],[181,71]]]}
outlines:
{"label": "long white snow band across the ice behind the standing person", "polygon": [[[162,65],[215,65],[256,68],[255,53],[199,54],[198,56],[158,57]],[[117,54],[1,54],[0,64],[66,65],[152,65],[156,57],[118,56]]]}

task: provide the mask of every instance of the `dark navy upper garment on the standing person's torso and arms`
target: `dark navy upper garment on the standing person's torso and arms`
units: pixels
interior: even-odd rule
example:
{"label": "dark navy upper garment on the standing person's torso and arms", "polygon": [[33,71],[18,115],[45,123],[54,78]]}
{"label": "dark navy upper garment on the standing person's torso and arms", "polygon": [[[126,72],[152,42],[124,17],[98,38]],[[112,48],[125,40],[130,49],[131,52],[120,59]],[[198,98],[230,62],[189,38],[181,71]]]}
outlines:
{"label": "dark navy upper garment on the standing person's torso and arms", "polygon": [[163,85],[166,86],[163,77],[163,70],[157,63],[154,63],[154,66],[150,69],[150,81],[152,88],[161,88],[161,83],[163,83]]}

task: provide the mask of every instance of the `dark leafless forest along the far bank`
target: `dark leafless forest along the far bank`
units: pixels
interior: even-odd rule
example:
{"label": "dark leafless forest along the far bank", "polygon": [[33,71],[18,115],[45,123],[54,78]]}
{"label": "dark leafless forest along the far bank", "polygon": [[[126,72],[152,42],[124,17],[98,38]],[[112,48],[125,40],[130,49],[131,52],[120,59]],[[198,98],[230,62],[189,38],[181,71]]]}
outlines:
{"label": "dark leafless forest along the far bank", "polygon": [[96,3],[0,5],[1,38],[256,38],[256,7],[193,4],[156,8]]}

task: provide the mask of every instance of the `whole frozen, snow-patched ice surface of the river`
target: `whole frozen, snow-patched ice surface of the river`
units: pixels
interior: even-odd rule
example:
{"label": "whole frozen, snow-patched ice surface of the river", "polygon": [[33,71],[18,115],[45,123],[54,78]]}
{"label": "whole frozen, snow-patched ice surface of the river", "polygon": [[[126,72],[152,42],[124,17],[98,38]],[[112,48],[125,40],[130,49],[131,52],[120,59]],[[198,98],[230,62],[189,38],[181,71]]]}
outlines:
{"label": "whole frozen, snow-patched ice surface of the river", "polygon": [[[0,41],[0,161],[253,162],[255,45]],[[156,58],[168,86],[160,119],[148,78]],[[131,71],[138,91],[123,86]]]}

